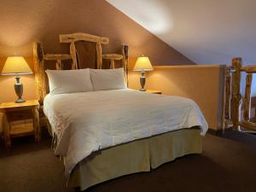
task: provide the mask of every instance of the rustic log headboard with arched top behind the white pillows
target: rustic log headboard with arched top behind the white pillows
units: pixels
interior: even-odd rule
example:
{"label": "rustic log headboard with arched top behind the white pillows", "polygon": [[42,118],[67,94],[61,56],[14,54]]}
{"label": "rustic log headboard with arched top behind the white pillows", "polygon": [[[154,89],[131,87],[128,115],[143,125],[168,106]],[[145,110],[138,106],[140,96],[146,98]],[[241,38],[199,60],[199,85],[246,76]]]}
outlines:
{"label": "rustic log headboard with arched top behind the white pillows", "polygon": [[[48,69],[44,61],[55,61],[55,69],[80,68],[115,68],[124,67],[125,79],[128,82],[128,46],[123,44],[119,54],[102,54],[102,44],[108,44],[108,38],[102,38],[87,33],[73,33],[60,35],[60,42],[70,44],[70,54],[46,54],[43,44],[33,44],[33,59],[35,67],[36,95],[40,104],[48,92],[48,81],[45,70]],[[104,61],[104,62],[103,62]],[[105,65],[103,65],[105,64]],[[50,67],[52,68],[52,67]]]}

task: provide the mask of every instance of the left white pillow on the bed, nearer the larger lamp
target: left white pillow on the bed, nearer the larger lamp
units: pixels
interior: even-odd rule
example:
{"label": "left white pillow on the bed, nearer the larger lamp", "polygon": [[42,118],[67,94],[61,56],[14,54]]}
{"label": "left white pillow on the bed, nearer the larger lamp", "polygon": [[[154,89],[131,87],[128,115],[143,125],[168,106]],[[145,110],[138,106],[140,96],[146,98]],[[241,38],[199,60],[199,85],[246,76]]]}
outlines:
{"label": "left white pillow on the bed, nearer the larger lamp", "polygon": [[52,95],[92,91],[90,69],[46,70]]}

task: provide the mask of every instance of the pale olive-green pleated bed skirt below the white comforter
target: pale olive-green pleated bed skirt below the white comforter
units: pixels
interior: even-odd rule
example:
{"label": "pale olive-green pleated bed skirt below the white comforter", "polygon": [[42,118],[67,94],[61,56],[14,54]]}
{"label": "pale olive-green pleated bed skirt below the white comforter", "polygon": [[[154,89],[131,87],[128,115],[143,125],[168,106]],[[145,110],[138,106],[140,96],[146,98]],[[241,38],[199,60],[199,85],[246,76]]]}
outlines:
{"label": "pale olive-green pleated bed skirt below the white comforter", "polygon": [[199,129],[183,129],[102,149],[82,160],[73,170],[68,187],[84,190],[97,183],[151,168],[186,154],[201,154]]}

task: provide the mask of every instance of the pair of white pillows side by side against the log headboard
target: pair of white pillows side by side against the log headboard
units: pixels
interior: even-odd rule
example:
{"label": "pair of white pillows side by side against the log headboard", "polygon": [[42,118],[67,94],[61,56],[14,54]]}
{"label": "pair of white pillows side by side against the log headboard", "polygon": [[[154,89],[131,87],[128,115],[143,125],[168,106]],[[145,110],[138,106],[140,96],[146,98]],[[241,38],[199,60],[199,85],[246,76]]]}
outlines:
{"label": "pair of white pillows side by side against the log headboard", "polygon": [[124,68],[46,70],[51,95],[127,88]]}

